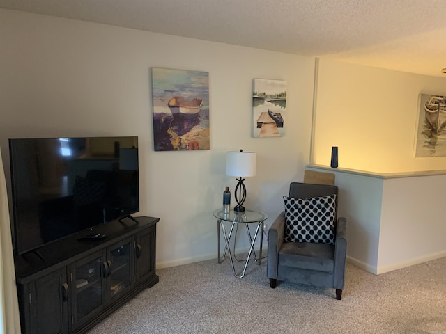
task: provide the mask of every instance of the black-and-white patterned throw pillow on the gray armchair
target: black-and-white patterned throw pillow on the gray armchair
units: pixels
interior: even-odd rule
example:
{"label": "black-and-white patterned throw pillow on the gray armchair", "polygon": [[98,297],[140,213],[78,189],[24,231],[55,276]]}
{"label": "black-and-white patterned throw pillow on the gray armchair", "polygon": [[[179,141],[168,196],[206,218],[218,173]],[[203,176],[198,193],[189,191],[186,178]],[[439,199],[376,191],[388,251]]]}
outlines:
{"label": "black-and-white patterned throw pillow on the gray armchair", "polygon": [[305,199],[284,196],[285,241],[334,245],[336,195]]}

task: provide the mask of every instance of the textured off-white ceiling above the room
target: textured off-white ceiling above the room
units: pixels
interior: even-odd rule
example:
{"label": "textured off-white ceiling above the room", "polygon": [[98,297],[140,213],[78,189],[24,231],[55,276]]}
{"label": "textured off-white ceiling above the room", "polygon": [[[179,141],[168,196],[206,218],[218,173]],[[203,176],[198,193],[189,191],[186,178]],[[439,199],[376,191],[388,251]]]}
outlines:
{"label": "textured off-white ceiling above the room", "polygon": [[0,8],[445,77],[446,0],[0,0]]}

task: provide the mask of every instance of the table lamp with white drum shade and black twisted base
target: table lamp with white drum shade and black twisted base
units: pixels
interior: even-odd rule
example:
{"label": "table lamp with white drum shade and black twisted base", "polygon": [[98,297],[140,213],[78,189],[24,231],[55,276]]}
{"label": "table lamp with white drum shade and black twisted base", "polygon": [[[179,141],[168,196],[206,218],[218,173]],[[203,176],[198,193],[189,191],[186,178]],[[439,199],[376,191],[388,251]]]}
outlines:
{"label": "table lamp with white drum shade and black twisted base", "polygon": [[234,191],[237,205],[235,212],[244,212],[243,202],[246,199],[246,187],[243,177],[256,175],[256,152],[226,152],[226,175],[240,177]]}

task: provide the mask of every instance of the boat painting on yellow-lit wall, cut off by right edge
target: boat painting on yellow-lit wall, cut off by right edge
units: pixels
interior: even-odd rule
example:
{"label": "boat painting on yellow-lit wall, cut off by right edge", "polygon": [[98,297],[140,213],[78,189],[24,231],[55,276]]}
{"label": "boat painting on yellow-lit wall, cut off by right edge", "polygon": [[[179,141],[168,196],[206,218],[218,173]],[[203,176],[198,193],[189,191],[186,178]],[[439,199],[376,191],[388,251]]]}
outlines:
{"label": "boat painting on yellow-lit wall, cut off by right edge", "polygon": [[446,95],[420,94],[415,157],[446,157]]}

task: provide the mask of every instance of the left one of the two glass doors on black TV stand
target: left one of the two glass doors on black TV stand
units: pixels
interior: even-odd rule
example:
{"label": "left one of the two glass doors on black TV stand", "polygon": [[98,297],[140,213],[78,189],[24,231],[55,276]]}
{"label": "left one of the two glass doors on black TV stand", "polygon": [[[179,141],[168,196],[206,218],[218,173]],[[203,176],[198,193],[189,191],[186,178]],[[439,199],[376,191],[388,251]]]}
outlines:
{"label": "left one of the two glass doors on black TV stand", "polygon": [[72,326],[76,328],[105,307],[105,252],[75,262],[72,269]]}

